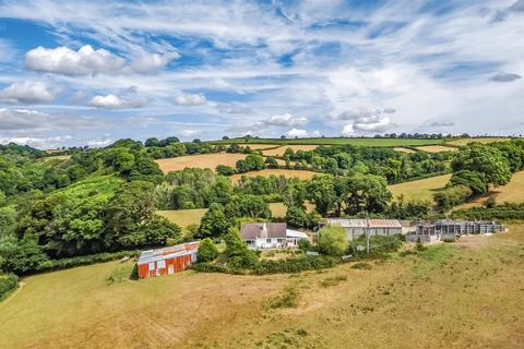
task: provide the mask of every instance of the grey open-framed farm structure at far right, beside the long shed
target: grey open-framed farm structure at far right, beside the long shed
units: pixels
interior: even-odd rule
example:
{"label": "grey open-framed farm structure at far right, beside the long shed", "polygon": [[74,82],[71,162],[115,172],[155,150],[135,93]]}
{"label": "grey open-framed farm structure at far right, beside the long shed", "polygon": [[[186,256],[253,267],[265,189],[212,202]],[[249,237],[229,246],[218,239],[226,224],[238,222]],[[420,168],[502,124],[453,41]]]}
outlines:
{"label": "grey open-framed farm structure at far right, beside the long shed", "polygon": [[450,220],[436,222],[419,221],[416,230],[406,236],[406,241],[430,243],[434,241],[455,241],[463,234],[493,233],[505,231],[505,227],[496,221],[485,220]]}

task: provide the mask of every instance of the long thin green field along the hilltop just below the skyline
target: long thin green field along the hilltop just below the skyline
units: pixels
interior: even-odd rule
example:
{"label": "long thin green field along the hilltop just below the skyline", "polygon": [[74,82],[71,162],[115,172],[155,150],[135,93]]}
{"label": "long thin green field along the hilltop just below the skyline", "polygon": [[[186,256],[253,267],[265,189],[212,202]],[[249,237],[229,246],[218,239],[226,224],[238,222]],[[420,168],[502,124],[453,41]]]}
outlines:
{"label": "long thin green field along the hilltop just below the skyline", "polygon": [[405,140],[405,139],[352,139],[352,137],[314,137],[314,139],[252,139],[246,143],[245,139],[231,139],[225,141],[213,141],[213,144],[302,144],[302,145],[360,145],[360,146],[417,146],[417,145],[436,145],[442,143],[443,140]]}

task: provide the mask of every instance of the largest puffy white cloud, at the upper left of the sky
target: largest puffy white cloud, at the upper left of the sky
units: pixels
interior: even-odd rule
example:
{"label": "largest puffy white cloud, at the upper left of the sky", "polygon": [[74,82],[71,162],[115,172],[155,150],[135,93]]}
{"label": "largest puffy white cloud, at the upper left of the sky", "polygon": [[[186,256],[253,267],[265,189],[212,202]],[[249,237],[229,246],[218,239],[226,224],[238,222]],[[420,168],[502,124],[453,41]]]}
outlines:
{"label": "largest puffy white cloud, at the upper left of the sky", "polygon": [[94,50],[90,45],[78,51],[63,46],[53,49],[39,46],[25,55],[25,64],[37,71],[87,75],[115,72],[126,64],[126,60],[105,49]]}

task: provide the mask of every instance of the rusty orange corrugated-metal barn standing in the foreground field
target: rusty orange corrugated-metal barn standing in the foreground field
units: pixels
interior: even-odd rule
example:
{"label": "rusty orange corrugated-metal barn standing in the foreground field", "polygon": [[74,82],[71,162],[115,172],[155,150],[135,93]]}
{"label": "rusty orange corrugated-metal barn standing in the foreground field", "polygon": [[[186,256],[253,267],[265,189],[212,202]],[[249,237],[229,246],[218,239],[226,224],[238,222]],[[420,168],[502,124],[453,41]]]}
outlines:
{"label": "rusty orange corrugated-metal barn standing in the foreground field", "polygon": [[199,242],[195,241],[144,251],[141,253],[138,262],[139,277],[143,279],[182,272],[196,262],[198,250]]}

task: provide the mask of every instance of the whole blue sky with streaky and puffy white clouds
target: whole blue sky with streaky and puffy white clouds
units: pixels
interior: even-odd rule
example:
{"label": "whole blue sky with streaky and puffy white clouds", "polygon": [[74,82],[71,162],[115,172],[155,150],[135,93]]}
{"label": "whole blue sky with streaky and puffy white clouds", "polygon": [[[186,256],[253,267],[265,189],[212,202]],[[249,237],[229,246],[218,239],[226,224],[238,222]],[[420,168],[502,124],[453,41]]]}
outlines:
{"label": "whole blue sky with streaky and puffy white clouds", "polygon": [[0,0],[0,143],[517,135],[523,76],[524,0]]}

